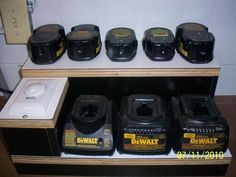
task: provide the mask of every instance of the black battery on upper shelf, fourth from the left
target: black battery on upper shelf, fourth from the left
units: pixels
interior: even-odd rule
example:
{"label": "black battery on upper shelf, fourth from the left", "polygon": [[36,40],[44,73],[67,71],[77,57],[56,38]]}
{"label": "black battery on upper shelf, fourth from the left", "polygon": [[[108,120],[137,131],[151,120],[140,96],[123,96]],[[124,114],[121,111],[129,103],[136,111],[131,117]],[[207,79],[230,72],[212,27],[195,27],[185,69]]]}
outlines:
{"label": "black battery on upper shelf, fourth from the left", "polygon": [[167,28],[150,28],[142,40],[145,54],[153,61],[169,61],[175,55],[175,37]]}

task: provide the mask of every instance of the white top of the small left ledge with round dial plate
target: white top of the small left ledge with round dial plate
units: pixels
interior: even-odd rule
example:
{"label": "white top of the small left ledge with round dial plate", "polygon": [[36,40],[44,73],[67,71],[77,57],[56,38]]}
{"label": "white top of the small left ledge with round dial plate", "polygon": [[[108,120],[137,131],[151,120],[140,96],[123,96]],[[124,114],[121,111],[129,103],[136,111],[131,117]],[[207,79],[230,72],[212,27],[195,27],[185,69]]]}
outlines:
{"label": "white top of the small left ledge with round dial plate", "polygon": [[67,78],[23,78],[0,113],[1,119],[52,119]]}

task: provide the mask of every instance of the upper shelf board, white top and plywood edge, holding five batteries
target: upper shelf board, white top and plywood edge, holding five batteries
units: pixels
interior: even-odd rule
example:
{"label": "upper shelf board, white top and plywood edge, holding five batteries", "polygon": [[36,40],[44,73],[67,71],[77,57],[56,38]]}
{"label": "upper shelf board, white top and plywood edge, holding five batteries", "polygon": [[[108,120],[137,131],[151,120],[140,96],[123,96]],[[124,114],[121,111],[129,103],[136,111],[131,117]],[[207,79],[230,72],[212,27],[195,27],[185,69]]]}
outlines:
{"label": "upper shelf board, white top and plywood edge, holding five batteries", "polygon": [[213,60],[206,64],[192,64],[178,53],[171,61],[155,62],[144,53],[141,43],[136,56],[129,62],[112,62],[103,45],[100,54],[89,61],[73,61],[65,53],[53,64],[37,65],[30,58],[21,69],[23,77],[166,77],[218,76],[220,66]]}

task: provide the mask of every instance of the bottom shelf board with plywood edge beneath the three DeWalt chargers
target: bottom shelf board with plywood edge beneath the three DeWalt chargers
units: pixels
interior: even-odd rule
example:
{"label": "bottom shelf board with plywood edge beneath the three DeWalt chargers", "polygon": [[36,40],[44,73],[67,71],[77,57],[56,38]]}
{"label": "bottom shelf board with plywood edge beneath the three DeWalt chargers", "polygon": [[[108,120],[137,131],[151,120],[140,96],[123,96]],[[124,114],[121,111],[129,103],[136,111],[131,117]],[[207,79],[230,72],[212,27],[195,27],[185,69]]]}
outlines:
{"label": "bottom shelf board with plywood edge beneath the three DeWalt chargers", "polygon": [[[169,155],[155,155],[155,156],[133,156],[133,158],[124,158],[123,155],[113,155],[110,157],[56,157],[56,156],[26,156],[26,155],[12,155],[11,158],[14,163],[18,164],[54,164],[54,165],[132,165],[132,166],[153,166],[153,165],[228,165],[231,162],[231,154],[229,150],[225,153],[224,159],[178,159],[173,151]],[[129,155],[132,156],[132,155]]]}

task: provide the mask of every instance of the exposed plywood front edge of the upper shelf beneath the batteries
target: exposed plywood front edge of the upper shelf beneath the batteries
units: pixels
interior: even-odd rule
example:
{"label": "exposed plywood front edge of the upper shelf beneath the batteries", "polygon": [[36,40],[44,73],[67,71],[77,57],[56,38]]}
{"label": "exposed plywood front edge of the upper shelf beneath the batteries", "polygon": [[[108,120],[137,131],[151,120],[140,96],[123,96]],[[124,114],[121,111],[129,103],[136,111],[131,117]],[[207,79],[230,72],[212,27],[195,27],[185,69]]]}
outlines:
{"label": "exposed plywood front edge of the upper shelf beneath the batteries", "polygon": [[23,77],[192,77],[218,76],[219,68],[22,69]]}

